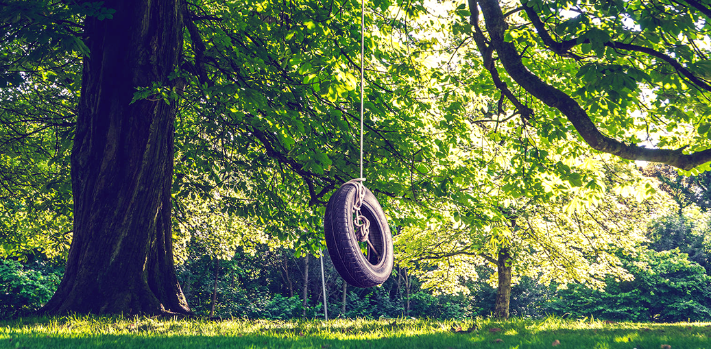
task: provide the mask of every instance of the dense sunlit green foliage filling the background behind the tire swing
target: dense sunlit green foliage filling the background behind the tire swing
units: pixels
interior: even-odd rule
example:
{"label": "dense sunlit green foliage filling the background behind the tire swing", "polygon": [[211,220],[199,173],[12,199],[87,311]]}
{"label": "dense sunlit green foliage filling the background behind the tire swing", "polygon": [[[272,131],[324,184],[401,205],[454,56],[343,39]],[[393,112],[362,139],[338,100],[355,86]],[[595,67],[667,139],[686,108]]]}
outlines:
{"label": "dense sunlit green foliage filling the background behind the tire swing", "polygon": [[[400,268],[358,291],[331,271],[334,316],[486,313],[493,289],[482,281],[511,291],[506,308],[522,316],[545,313],[551,283],[580,283],[556,297],[587,299],[555,311],[707,316],[707,290],[688,279],[708,267],[708,226],[689,222],[708,209],[709,177],[682,176],[711,159],[704,4],[366,1],[363,63],[358,1],[178,4],[179,64],[169,82],[135,86],[132,103],[178,108],[174,255],[198,313],[321,313],[309,277],[319,259],[305,256],[324,248],[329,195],[359,176],[363,68],[364,176],[398,234]],[[85,22],[114,13],[102,2],[0,2],[0,257],[66,257]],[[648,168],[653,181],[619,158],[690,172]],[[645,238],[656,252],[641,249]],[[4,265],[8,290],[38,294],[7,312],[41,304],[51,282],[39,293],[21,285],[45,285],[43,272]],[[667,285],[668,301],[638,291],[630,304],[631,285]],[[605,296],[619,308],[595,308]]]}

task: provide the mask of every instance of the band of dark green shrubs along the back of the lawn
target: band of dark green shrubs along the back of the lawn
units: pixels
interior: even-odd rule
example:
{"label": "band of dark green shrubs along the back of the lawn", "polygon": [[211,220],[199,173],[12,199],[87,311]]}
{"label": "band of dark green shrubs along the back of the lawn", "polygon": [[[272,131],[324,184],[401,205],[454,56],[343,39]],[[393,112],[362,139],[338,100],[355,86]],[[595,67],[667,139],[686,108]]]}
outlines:
{"label": "band of dark green shrubs along the back of the lawn", "polygon": [[[510,314],[541,319],[555,314],[571,319],[678,322],[711,321],[711,276],[705,268],[707,221],[679,216],[660,218],[649,227],[650,241],[634,257],[621,255],[630,281],[607,279],[604,289],[583,284],[565,288],[523,277],[513,286]],[[215,259],[193,245],[178,265],[188,304],[198,316],[287,320],[324,318],[321,260],[296,257],[294,249],[240,247],[229,259]],[[24,258],[24,259],[22,259]],[[62,268],[38,252],[23,262],[0,262],[0,315],[28,315],[53,294]],[[371,289],[344,285],[328,254],[324,257],[328,318],[488,317],[496,287],[491,269],[480,267],[478,281],[466,281],[467,293],[442,294],[423,289],[412,271],[396,267],[385,284]],[[309,276],[305,281],[305,272]],[[304,298],[304,294],[306,297]]]}

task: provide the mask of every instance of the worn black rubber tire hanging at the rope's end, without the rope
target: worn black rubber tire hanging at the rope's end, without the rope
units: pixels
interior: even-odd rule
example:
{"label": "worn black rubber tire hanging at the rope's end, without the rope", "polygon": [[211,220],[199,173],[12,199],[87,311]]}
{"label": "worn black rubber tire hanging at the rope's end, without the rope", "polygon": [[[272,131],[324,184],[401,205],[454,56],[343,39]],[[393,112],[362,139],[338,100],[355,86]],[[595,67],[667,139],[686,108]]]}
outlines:
{"label": "worn black rubber tire hanging at the rope's end, without the rope", "polygon": [[331,195],[326,205],[324,231],[326,246],[333,266],[348,284],[355,287],[373,287],[383,284],[392,272],[392,235],[383,208],[373,193],[365,188],[365,198],[360,214],[370,221],[370,240],[375,253],[361,252],[362,242],[355,237],[353,227],[353,199],[358,192],[355,185],[341,186]]}

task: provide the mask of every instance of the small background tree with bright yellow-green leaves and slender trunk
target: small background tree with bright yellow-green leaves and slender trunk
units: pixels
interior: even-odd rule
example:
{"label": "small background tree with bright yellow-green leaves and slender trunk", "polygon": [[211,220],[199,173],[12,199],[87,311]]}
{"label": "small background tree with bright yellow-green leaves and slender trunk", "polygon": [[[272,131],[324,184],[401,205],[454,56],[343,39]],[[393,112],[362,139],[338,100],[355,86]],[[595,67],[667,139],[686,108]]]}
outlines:
{"label": "small background tree with bright yellow-green leaves and slender trunk", "polygon": [[[564,195],[550,190],[544,198],[522,197],[499,206],[501,215],[468,225],[405,229],[395,237],[397,260],[424,287],[444,293],[469,293],[467,285],[481,279],[481,267],[493,269],[483,274],[498,288],[493,310],[500,318],[508,317],[511,287],[524,277],[543,286],[593,289],[602,289],[606,279],[631,279],[619,256],[637,254],[651,219],[668,214],[668,198],[653,195],[651,184],[634,167],[602,159],[586,162],[589,174],[602,174],[599,188],[574,190],[574,184],[566,183],[571,188]],[[563,184],[560,178],[548,179],[549,187]],[[506,182],[488,188],[486,195],[501,194],[503,186]]]}

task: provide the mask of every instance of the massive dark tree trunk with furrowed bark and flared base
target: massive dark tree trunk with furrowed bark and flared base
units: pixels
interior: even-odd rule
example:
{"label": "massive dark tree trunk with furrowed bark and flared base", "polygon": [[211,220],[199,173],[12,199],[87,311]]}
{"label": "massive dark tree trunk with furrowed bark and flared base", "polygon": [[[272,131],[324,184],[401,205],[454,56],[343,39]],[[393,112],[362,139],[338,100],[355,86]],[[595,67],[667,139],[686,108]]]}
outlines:
{"label": "massive dark tree trunk with furrowed bark and flared base", "polygon": [[87,17],[72,149],[74,235],[46,313],[188,313],[173,265],[171,180],[176,105],[131,103],[160,82],[181,50],[180,0],[106,0]]}

